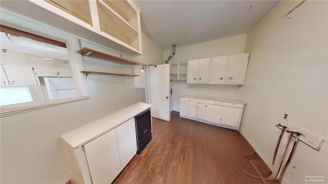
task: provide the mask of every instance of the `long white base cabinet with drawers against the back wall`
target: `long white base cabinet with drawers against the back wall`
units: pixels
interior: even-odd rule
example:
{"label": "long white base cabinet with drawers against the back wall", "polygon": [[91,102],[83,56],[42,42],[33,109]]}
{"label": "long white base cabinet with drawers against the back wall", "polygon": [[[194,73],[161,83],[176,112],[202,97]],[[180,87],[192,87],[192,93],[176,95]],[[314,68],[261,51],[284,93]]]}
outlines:
{"label": "long white base cabinet with drawers against the back wall", "polygon": [[180,98],[180,117],[239,130],[245,103],[195,97]]}

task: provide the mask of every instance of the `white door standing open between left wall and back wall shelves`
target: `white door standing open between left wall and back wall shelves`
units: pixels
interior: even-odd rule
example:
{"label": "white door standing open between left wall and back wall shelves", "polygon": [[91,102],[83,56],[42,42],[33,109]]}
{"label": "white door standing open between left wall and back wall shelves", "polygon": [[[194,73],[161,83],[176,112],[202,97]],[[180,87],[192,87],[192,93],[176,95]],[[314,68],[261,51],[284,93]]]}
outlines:
{"label": "white door standing open between left wall and back wall shelves", "polygon": [[150,95],[152,116],[170,121],[170,64],[151,66]]}

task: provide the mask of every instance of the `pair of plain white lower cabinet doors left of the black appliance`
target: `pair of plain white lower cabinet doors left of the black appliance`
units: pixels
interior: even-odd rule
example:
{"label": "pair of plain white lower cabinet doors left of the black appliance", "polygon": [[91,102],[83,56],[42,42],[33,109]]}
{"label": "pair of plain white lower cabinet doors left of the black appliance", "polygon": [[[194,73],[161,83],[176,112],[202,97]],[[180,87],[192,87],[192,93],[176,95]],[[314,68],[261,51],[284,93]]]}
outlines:
{"label": "pair of plain white lower cabinet doors left of the black appliance", "polygon": [[84,145],[93,183],[111,183],[137,151],[134,118]]}

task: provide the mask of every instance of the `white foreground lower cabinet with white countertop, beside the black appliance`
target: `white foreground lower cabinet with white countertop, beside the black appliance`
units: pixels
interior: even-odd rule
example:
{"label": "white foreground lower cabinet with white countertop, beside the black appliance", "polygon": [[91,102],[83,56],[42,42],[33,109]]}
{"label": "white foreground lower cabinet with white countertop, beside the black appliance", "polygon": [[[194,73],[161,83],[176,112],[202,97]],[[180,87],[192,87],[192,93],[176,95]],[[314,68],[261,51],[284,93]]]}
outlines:
{"label": "white foreground lower cabinet with white countertop, beside the black appliance", "polygon": [[61,135],[73,180],[111,183],[136,154],[135,116],[150,107],[137,103]]}

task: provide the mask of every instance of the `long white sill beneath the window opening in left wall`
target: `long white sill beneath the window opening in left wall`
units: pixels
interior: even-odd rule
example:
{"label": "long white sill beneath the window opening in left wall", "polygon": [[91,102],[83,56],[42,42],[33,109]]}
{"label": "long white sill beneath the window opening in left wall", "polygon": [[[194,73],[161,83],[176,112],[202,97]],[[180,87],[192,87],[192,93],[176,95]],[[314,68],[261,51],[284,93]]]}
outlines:
{"label": "long white sill beneath the window opening in left wall", "polygon": [[44,108],[57,106],[60,104],[66,104],[72,101],[78,101],[88,98],[90,98],[90,96],[75,96],[70,98],[61,98],[61,99],[53,99],[53,100],[45,100],[45,101],[32,101],[28,103],[2,106],[0,110],[0,117],[34,111],[38,109],[44,109]]}

